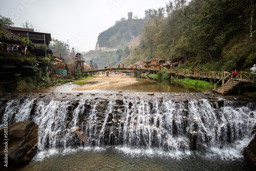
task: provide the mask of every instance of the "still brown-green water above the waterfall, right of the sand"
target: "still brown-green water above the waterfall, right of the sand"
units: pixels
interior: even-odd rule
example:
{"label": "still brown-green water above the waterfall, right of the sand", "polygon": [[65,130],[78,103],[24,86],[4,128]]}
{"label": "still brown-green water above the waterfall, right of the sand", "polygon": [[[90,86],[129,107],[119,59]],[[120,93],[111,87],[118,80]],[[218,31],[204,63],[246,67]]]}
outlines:
{"label": "still brown-green water above the waterfall, right of the sand", "polygon": [[[118,90],[129,91],[129,92],[199,92],[206,89],[198,88],[195,86],[184,86],[176,82],[169,81],[153,81],[148,79],[137,79],[137,83],[129,86],[118,88]],[[117,89],[115,89],[117,90]]]}

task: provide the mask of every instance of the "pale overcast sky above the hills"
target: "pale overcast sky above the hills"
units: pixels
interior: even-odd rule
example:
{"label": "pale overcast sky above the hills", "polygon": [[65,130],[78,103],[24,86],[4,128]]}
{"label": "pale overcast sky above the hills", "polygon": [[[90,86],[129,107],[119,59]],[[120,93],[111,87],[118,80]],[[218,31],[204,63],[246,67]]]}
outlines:
{"label": "pale overcast sky above the hills", "polygon": [[52,38],[69,40],[76,50],[94,50],[99,33],[115,25],[127,13],[144,17],[147,9],[165,7],[169,0],[0,0],[0,14],[22,27],[26,20],[51,33]]}

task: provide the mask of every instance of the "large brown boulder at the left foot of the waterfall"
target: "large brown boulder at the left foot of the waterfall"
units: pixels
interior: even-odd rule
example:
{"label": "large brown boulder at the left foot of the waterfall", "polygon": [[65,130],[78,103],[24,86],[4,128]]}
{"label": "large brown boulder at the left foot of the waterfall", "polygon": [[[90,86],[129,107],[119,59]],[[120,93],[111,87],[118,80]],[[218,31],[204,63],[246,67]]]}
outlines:
{"label": "large brown boulder at the left foot of the waterfall", "polygon": [[30,162],[36,155],[37,135],[38,125],[32,121],[14,123],[8,126],[8,131],[4,127],[0,130],[0,161],[8,167]]}

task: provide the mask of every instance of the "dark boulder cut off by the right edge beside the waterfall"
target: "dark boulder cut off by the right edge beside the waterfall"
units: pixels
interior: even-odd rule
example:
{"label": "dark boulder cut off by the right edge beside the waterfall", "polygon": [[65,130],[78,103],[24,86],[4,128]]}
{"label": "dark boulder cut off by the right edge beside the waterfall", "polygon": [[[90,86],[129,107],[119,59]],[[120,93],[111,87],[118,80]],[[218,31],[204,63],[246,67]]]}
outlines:
{"label": "dark boulder cut off by the right edge beside the waterfall", "polygon": [[244,148],[244,157],[250,167],[256,170],[256,135],[251,140],[249,145]]}

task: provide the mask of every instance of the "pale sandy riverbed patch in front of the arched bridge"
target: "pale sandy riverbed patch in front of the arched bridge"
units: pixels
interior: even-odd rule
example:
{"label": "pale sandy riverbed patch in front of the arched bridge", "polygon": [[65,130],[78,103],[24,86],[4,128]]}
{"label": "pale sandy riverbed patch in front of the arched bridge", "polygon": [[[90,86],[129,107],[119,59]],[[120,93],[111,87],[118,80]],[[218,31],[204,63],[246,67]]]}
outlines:
{"label": "pale sandy riverbed patch in front of the arched bridge", "polygon": [[74,90],[86,91],[86,90],[98,90],[98,89],[113,89],[123,86],[128,86],[138,82],[136,78],[129,75],[111,75],[106,77],[105,75],[98,75],[96,77],[89,78],[87,82],[94,82],[89,86],[83,86],[74,88]]}

